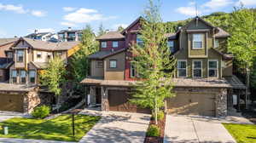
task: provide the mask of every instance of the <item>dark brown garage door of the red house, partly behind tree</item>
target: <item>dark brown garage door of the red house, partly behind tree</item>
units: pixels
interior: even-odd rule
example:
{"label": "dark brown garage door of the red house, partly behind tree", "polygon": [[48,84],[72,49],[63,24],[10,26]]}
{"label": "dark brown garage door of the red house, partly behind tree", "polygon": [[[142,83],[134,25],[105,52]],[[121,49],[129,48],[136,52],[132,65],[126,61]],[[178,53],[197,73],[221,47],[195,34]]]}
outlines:
{"label": "dark brown garage door of the red house, partly behind tree", "polygon": [[128,90],[108,90],[109,111],[150,113],[149,109],[129,103],[129,99],[131,99],[131,94]]}

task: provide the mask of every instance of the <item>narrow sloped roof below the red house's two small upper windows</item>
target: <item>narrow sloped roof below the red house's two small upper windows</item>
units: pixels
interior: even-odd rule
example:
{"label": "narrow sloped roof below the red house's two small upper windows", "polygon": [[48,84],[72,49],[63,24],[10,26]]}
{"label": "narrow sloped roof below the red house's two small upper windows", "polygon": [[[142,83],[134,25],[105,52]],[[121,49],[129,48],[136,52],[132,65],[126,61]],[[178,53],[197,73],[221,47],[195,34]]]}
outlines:
{"label": "narrow sloped roof below the red house's two small upper windows", "polygon": [[119,49],[116,51],[99,51],[96,52],[95,54],[90,54],[88,56],[89,59],[96,59],[96,60],[102,60],[107,58],[108,56],[114,55],[114,54],[119,54],[123,51],[125,51],[126,49]]}

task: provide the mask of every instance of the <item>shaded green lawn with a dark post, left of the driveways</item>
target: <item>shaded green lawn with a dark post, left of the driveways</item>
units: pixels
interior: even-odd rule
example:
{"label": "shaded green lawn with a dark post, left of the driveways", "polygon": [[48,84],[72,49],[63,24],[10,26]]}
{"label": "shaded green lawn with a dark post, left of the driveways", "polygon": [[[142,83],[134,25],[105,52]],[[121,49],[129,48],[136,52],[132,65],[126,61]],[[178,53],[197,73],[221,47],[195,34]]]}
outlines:
{"label": "shaded green lawn with a dark post, left of the driveways", "polygon": [[15,117],[0,123],[0,127],[9,127],[8,135],[4,135],[3,129],[0,128],[0,138],[79,141],[100,118],[75,115],[75,136],[73,136],[72,115],[61,115],[48,121]]}

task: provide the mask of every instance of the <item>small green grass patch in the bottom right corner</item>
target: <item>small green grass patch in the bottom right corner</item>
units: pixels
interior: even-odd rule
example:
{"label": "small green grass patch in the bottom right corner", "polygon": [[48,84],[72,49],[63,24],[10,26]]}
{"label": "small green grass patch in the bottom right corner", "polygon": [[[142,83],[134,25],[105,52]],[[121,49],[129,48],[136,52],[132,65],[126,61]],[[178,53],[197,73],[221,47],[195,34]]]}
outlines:
{"label": "small green grass patch in the bottom right corner", "polygon": [[223,123],[237,143],[256,143],[256,125]]}

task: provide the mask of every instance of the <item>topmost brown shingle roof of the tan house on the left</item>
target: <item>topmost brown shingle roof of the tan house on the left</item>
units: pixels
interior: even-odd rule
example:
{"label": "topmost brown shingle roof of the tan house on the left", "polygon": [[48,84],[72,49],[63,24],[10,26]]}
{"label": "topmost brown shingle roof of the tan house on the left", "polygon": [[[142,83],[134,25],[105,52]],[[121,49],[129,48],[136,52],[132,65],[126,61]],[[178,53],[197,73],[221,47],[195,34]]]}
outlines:
{"label": "topmost brown shingle roof of the tan house on the left", "polygon": [[73,47],[77,46],[79,42],[60,42],[60,43],[52,43],[52,42],[45,42],[41,40],[35,40],[26,37],[20,37],[20,40],[17,41],[14,47],[21,41],[24,40],[28,43],[32,49],[39,49],[39,50],[47,50],[47,51],[57,51],[57,50],[68,50],[72,49]]}

